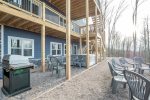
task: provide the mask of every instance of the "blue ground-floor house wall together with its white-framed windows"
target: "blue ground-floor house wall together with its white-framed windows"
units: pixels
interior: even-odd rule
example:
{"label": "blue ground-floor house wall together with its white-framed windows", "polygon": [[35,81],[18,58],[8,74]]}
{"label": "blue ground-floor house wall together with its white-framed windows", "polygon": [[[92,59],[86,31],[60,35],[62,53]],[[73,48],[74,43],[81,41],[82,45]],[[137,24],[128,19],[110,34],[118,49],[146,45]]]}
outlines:
{"label": "blue ground-floor house wall together with its white-framed windows", "polygon": [[[1,51],[4,54],[23,55],[28,58],[41,58],[41,35],[1,25],[1,39],[3,46]],[[46,55],[64,56],[66,55],[66,40],[46,35],[45,39]],[[79,53],[79,42],[71,42],[71,54]],[[2,56],[1,56],[2,57]]]}

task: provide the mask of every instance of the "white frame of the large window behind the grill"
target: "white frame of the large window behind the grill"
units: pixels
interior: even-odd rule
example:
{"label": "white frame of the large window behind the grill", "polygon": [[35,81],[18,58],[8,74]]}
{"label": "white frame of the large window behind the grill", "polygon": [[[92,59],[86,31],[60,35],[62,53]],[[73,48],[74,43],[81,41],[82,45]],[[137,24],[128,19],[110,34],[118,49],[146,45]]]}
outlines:
{"label": "white frame of the large window behind the grill", "polygon": [[[8,54],[11,54],[11,39],[18,39],[21,41],[32,41],[32,56],[25,56],[27,58],[34,58],[34,39],[28,39],[28,38],[21,38],[21,37],[15,37],[15,36],[8,36]],[[22,44],[23,45],[23,42]],[[23,46],[21,47],[21,55],[24,56],[24,50],[25,48],[23,48]]]}

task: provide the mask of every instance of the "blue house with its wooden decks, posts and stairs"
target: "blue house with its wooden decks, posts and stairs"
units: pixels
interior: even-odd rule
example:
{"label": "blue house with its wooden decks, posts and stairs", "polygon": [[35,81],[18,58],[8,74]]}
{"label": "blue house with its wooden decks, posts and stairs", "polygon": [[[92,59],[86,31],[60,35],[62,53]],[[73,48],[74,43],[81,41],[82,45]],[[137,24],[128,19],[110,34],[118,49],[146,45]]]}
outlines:
{"label": "blue house with its wooden decks, posts and stairs", "polygon": [[[100,2],[69,1],[0,0],[0,60],[5,54],[23,55],[41,59],[45,66],[47,55],[65,56],[67,52],[68,56],[85,53],[87,67],[90,53],[98,62],[105,52]],[[89,25],[89,18],[93,25]]]}

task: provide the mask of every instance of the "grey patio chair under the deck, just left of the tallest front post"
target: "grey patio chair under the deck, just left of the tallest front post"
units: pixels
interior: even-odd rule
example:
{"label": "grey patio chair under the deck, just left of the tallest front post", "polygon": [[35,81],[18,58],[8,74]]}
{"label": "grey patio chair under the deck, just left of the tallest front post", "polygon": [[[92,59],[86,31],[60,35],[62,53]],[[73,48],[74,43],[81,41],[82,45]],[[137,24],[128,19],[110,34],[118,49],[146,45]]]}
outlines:
{"label": "grey patio chair under the deck, just left of the tallest front post", "polygon": [[66,73],[66,65],[62,62],[60,62],[57,57],[50,56],[51,66],[52,66],[52,75],[53,72],[56,71],[56,74],[58,74],[58,77],[60,77],[61,71],[65,70]]}

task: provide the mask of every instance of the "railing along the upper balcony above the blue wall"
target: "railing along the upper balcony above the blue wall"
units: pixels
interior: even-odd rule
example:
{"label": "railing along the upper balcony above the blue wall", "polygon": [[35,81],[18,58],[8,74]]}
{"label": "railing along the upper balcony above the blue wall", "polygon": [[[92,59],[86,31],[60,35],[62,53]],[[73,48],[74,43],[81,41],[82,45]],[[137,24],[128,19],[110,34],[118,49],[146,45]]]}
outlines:
{"label": "railing along the upper balcony above the blue wall", "polygon": [[[32,16],[42,18],[42,6],[43,2],[39,0],[2,0],[2,3],[5,3],[6,5],[15,8],[17,10],[23,11],[25,13],[28,13]],[[52,7],[45,4],[45,19],[47,22],[61,26],[66,27],[66,17],[53,9]],[[72,22],[72,31],[76,33],[80,33],[80,26],[78,26],[76,23]]]}

